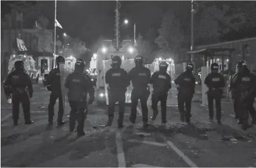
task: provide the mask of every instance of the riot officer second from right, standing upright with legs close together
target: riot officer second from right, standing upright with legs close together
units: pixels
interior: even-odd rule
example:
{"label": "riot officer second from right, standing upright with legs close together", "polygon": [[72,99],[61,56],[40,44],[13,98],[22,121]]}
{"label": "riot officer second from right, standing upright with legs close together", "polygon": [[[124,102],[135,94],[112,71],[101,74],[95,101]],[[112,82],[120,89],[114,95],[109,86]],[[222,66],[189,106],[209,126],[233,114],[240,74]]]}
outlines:
{"label": "riot officer second from right, standing upright with legs close together", "polygon": [[222,88],[225,87],[225,80],[222,74],[218,73],[218,64],[213,63],[211,66],[211,73],[209,73],[205,78],[205,84],[208,87],[207,99],[208,99],[208,109],[209,118],[213,120],[213,100],[216,104],[216,118],[219,125],[221,125],[221,98],[223,94]]}

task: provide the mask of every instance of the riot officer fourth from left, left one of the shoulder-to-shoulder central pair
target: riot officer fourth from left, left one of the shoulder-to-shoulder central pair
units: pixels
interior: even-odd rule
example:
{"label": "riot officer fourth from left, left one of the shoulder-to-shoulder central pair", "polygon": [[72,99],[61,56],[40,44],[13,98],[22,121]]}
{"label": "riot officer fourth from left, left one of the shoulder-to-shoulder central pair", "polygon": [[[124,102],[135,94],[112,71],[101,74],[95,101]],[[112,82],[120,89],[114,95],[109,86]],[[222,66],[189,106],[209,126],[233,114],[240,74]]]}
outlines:
{"label": "riot officer fourth from left, left one of the shoulder-to-shoulder central pair", "polygon": [[124,109],[125,109],[125,92],[130,85],[128,73],[120,68],[121,58],[114,55],[112,58],[112,68],[107,70],[105,80],[109,86],[109,120],[106,126],[111,126],[114,118],[114,106],[119,103],[118,128],[123,128]]}

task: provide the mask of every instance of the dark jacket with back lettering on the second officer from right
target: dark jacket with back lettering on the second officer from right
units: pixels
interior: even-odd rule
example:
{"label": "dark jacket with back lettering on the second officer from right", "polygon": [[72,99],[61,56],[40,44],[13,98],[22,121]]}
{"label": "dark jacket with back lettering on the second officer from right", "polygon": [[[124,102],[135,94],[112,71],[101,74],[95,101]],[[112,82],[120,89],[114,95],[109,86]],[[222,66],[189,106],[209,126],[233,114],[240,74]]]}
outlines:
{"label": "dark jacket with back lettering on the second officer from right", "polygon": [[220,73],[209,73],[205,78],[205,84],[209,90],[221,89],[222,87],[225,87],[225,80]]}

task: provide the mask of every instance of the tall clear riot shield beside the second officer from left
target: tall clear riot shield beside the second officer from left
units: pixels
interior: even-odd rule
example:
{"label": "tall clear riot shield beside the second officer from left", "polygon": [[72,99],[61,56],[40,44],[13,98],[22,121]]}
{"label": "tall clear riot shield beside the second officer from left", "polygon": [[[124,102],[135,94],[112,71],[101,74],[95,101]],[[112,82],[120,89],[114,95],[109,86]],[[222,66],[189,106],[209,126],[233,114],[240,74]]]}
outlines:
{"label": "tall clear riot shield beside the second officer from left", "polygon": [[[68,76],[67,70],[64,68],[64,63],[60,63],[60,76],[61,76],[61,94],[62,94],[62,100],[63,100],[63,110],[65,114],[65,110],[67,107],[68,99],[67,99],[67,90],[65,88],[65,80]],[[60,103],[60,102],[59,102]]]}

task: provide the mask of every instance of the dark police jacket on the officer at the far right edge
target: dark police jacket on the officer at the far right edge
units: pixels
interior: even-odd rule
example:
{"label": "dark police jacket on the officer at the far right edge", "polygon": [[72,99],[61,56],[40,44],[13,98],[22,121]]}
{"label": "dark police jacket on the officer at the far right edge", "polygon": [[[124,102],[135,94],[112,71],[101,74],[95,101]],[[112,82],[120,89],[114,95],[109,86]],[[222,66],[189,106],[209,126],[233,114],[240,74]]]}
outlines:
{"label": "dark police jacket on the officer at the far right edge", "polygon": [[230,88],[235,96],[240,96],[243,92],[250,92],[253,94],[256,90],[255,87],[255,76],[247,69],[244,70],[244,72],[234,74],[230,83]]}

